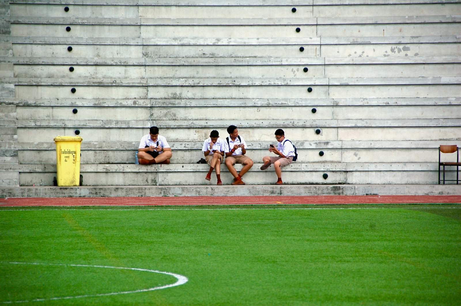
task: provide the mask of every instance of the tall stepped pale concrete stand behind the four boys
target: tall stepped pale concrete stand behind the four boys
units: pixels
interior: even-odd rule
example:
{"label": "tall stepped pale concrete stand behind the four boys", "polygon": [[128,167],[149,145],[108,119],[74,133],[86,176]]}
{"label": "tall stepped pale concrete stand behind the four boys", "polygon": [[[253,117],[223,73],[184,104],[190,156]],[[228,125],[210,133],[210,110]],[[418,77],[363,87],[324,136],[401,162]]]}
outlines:
{"label": "tall stepped pale concrete stand behind the four boys", "polygon": [[[438,146],[461,146],[461,0],[61,2],[0,2],[2,186],[53,185],[76,130],[83,185],[213,185],[196,162],[231,124],[250,185],[276,181],[277,128],[285,184],[437,184]],[[153,125],[171,164],[135,165]]]}

